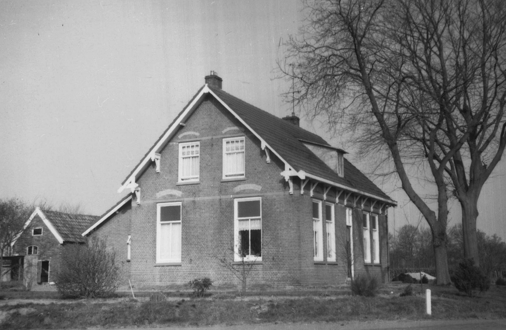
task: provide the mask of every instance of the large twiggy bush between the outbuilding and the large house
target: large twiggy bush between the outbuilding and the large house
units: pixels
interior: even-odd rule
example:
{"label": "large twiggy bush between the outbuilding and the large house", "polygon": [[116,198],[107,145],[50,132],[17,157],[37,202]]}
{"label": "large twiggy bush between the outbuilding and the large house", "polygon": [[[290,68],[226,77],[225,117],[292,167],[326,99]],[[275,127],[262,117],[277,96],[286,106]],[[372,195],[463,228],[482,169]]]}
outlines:
{"label": "large twiggy bush between the outbuilding and the large house", "polygon": [[110,297],[118,287],[115,254],[107,252],[105,240],[64,245],[56,288],[67,298]]}

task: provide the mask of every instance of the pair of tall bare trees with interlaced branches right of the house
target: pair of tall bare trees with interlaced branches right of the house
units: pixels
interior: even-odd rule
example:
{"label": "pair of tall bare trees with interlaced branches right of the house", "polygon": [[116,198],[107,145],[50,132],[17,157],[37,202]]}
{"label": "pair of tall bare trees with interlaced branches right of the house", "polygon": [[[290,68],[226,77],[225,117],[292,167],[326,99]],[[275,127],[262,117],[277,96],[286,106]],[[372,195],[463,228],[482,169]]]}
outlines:
{"label": "pair of tall bare trees with interlaced branches right of the house", "polygon": [[[330,128],[344,124],[366,154],[388,156],[383,165],[431,228],[437,282],[448,283],[448,200],[462,205],[466,255],[477,263],[476,202],[506,146],[504,5],[326,0],[305,10],[279,64],[300,91],[293,102]],[[420,163],[430,196],[413,187]]]}

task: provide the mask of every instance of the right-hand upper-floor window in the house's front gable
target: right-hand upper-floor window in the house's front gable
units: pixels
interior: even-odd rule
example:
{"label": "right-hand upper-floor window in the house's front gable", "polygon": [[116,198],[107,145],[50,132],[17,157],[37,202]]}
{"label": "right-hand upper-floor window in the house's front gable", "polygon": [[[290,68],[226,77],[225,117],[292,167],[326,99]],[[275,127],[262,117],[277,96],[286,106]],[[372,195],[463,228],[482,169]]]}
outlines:
{"label": "right-hand upper-floor window in the house's front gable", "polygon": [[223,139],[223,179],[244,178],[244,137]]}

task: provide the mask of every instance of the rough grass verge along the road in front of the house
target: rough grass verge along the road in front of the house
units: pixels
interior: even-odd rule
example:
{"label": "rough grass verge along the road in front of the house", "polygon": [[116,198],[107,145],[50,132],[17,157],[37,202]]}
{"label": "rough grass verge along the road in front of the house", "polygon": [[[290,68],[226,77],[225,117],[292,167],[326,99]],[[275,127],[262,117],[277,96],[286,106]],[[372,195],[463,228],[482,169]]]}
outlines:
{"label": "rough grass verge along the road in front of the house", "polygon": [[[55,329],[94,326],[206,326],[264,322],[338,322],[351,320],[506,318],[506,287],[493,285],[475,298],[460,295],[454,287],[424,285],[432,290],[432,317],[425,315],[425,295],[399,297],[407,284],[389,284],[377,297],[350,296],[346,290],[306,290],[313,295],[257,296],[239,299],[230,293],[211,292],[210,298],[152,300],[127,297],[114,300],[58,300],[51,304],[0,301],[2,329]],[[339,295],[329,292],[340,292]],[[0,293],[2,294],[2,293]],[[235,297],[235,298],[234,298]]]}

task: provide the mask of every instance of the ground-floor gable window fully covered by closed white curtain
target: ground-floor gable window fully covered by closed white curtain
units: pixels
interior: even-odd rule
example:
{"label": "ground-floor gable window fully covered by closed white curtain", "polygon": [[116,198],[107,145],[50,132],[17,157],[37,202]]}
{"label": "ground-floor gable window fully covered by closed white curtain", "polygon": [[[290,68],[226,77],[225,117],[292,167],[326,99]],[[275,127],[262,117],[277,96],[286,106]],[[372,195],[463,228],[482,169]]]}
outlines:
{"label": "ground-floor gable window fully covered by closed white curtain", "polygon": [[156,263],[181,262],[181,202],[157,204]]}

